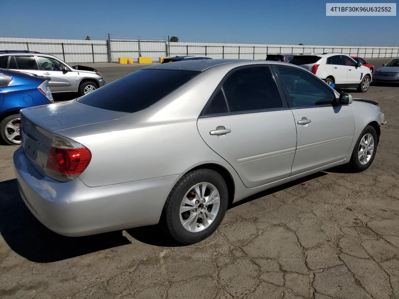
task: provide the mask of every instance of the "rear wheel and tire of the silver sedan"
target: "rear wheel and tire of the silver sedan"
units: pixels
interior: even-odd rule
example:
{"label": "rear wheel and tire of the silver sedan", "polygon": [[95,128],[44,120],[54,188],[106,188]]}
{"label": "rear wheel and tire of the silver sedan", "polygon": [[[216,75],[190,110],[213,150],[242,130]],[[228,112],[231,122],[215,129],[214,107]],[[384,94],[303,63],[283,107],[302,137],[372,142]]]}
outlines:
{"label": "rear wheel and tire of the silver sedan", "polygon": [[223,177],[211,169],[196,169],[185,174],[170,191],[160,225],[177,242],[194,244],[215,232],[227,205]]}

